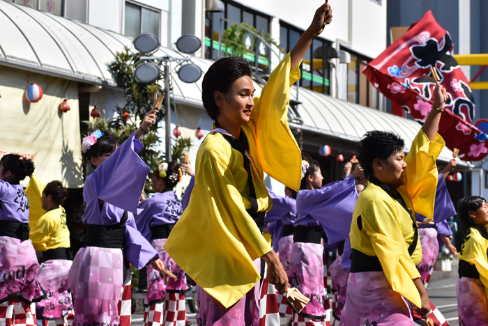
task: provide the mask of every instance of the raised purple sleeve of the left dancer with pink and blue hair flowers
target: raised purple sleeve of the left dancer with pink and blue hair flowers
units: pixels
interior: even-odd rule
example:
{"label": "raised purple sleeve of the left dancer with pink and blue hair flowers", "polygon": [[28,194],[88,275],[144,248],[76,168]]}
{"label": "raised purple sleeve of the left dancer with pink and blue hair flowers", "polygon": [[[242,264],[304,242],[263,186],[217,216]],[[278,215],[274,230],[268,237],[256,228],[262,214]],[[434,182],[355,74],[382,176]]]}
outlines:
{"label": "raised purple sleeve of the left dancer with pink and blue hair flowers", "polygon": [[135,132],[93,171],[93,187],[98,199],[137,214],[139,198],[149,167],[137,155],[142,143]]}

